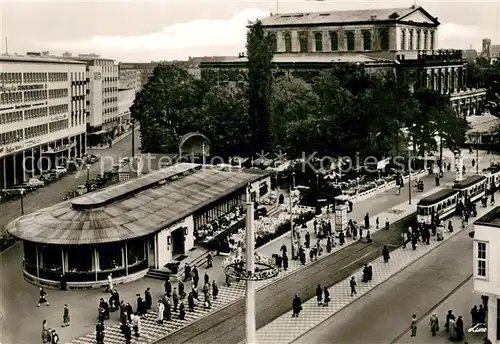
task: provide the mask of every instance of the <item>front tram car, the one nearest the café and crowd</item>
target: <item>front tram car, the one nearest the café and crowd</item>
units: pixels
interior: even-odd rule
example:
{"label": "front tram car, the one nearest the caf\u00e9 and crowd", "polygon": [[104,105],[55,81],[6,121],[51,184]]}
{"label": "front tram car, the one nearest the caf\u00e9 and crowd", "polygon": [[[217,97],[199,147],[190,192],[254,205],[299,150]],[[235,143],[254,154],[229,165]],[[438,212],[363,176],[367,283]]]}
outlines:
{"label": "front tram car, the one nearest the caf\u00e9 and crowd", "polygon": [[455,212],[459,196],[459,190],[443,189],[421,199],[417,203],[417,222],[431,225],[436,217],[444,220]]}

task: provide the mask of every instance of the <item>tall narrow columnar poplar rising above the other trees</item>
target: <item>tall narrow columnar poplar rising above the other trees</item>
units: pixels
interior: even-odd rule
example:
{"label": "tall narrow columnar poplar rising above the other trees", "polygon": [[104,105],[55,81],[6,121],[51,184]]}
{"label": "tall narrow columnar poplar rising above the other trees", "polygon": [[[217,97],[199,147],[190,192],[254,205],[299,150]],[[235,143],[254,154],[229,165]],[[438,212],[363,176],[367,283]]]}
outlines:
{"label": "tall narrow columnar poplar rising above the other trees", "polygon": [[250,117],[250,151],[252,155],[271,148],[269,122],[271,117],[273,51],[268,33],[257,20],[247,33],[248,114]]}

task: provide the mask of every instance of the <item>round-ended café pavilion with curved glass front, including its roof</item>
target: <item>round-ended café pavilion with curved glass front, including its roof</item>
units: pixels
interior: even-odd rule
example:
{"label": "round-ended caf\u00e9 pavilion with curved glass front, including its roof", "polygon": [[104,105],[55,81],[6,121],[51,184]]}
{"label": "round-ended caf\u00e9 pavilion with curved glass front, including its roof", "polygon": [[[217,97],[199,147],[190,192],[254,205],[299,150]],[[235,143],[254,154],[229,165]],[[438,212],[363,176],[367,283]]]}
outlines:
{"label": "round-ended caf\u00e9 pavilion with curved glass front, including its roof", "polygon": [[31,283],[58,287],[64,275],[70,288],[96,287],[109,274],[124,283],[192,250],[197,229],[242,204],[249,183],[267,189],[270,177],[181,163],[21,216],[7,231],[23,241]]}

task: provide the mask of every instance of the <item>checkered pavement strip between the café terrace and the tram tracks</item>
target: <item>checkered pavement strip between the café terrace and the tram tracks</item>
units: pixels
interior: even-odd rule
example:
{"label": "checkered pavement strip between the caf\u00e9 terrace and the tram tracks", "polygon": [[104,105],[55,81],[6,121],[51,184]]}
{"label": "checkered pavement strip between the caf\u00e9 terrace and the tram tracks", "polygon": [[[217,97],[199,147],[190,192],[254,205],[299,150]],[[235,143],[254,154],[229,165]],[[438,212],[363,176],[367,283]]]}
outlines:
{"label": "checkered pavement strip between the caf\u00e9 terrace and the tram tracks", "polygon": [[[433,192],[436,192],[436,190],[434,190],[430,193],[433,193]],[[422,194],[420,196],[425,197],[425,196],[427,196],[427,194]],[[389,218],[389,221],[391,223],[393,223],[399,219],[402,219],[402,218],[410,215],[412,212],[414,212],[414,208],[412,208],[411,206],[410,207],[398,206],[398,208],[401,208],[404,210],[402,210],[401,212],[399,212],[397,214],[384,212],[384,213],[381,213],[381,214],[378,214],[378,215],[372,217],[370,219],[370,221],[372,223],[374,223],[375,218],[377,216],[383,216],[381,218],[387,217],[387,218]],[[309,230],[311,231],[312,230],[312,223],[309,223],[309,227],[311,227],[311,228],[309,228]],[[371,232],[373,234],[373,233],[377,232],[378,230],[379,229],[373,228],[371,230]],[[343,246],[340,246],[340,245],[338,245],[338,242],[337,242],[337,246],[332,247],[332,252],[330,254],[336,253],[340,249],[351,245],[355,241],[357,241],[357,240],[353,240],[352,238],[346,237],[345,244]],[[314,243],[314,242],[312,241],[312,243]],[[322,240],[322,245],[323,246],[325,245],[324,240]],[[287,245],[287,246],[289,246],[289,245]],[[279,252],[276,252],[276,253],[279,253]],[[330,254],[328,254],[328,253],[326,253],[326,251],[324,251],[322,256],[318,257],[318,260],[322,259],[326,256],[329,256]],[[255,284],[256,284],[257,290],[262,289],[262,288],[264,288],[264,287],[266,287],[266,286],[268,286],[268,285],[270,285],[270,284],[272,284],[272,283],[274,283],[274,282],[276,282],[276,281],[278,281],[286,276],[289,276],[290,274],[296,272],[299,269],[305,268],[308,264],[310,264],[309,252],[307,249],[306,249],[306,260],[307,260],[307,263],[305,266],[302,265],[299,261],[290,260],[289,267],[288,267],[287,271],[281,270],[280,273],[273,278],[270,278],[268,280],[263,280],[263,281],[256,281]],[[200,294],[201,294],[200,299],[202,299],[203,295],[202,295],[202,293],[200,293]],[[133,344],[153,343],[153,342],[167,336],[168,334],[170,334],[174,331],[177,331],[185,326],[192,324],[193,322],[205,317],[206,315],[208,315],[212,312],[216,312],[216,311],[220,310],[221,308],[227,307],[230,303],[233,303],[233,302],[243,298],[244,296],[245,296],[245,282],[243,282],[243,281],[232,282],[230,287],[221,285],[221,286],[219,286],[218,298],[217,298],[217,300],[212,301],[212,307],[210,309],[204,309],[203,306],[201,306],[201,307],[196,307],[194,312],[189,312],[189,310],[187,310],[187,302],[185,302],[185,305],[186,305],[185,319],[180,320],[179,313],[178,312],[173,313],[172,320],[171,321],[164,320],[164,323],[162,325],[158,324],[156,321],[156,309],[151,310],[148,312],[146,318],[141,320],[140,337],[136,338],[136,337],[132,336],[131,343],[133,343]],[[333,297],[332,297],[332,300],[333,300]],[[156,307],[155,304],[153,306]],[[111,317],[118,318],[118,313],[116,313],[116,312],[111,313]],[[108,324],[105,324],[105,327],[106,327],[106,330],[105,330],[104,343],[106,343],[106,344],[118,344],[118,343],[122,344],[122,343],[124,343],[124,336],[121,333],[120,324],[117,324],[117,323],[109,324],[109,321],[108,321]],[[95,342],[96,342],[95,341],[95,332],[93,332],[93,333],[89,333],[87,335],[84,335],[80,338],[73,339],[73,340],[67,342],[67,344],[94,344]]]}

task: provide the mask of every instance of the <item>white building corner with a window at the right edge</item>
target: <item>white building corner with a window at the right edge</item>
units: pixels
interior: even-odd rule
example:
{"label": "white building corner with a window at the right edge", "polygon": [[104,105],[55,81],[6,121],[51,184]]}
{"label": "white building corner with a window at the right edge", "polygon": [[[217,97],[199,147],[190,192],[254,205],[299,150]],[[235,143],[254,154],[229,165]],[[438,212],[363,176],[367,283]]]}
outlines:
{"label": "white building corner with a window at the right edge", "polygon": [[500,340],[500,207],[474,222],[474,293],[487,300],[488,339]]}

